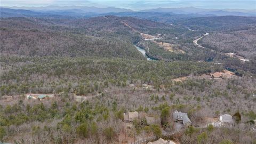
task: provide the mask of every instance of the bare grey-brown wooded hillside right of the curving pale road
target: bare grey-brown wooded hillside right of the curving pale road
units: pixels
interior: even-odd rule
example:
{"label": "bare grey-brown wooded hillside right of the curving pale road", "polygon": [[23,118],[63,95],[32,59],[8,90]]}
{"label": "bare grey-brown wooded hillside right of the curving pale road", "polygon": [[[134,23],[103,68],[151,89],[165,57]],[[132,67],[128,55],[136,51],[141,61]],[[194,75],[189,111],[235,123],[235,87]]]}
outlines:
{"label": "bare grey-brown wooded hillside right of the curving pale road", "polygon": [[247,59],[256,60],[256,27],[244,30],[217,32],[202,39],[205,47],[224,53],[237,53]]}

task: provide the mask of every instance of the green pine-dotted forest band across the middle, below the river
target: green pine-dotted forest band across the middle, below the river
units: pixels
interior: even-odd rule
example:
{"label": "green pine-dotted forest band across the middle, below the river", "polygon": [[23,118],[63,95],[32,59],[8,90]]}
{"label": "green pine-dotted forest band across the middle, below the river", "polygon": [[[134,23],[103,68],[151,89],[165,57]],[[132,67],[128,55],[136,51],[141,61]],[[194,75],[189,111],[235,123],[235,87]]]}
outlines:
{"label": "green pine-dotted forest band across the middle, below the river", "polygon": [[[10,57],[1,58],[1,94],[52,93],[68,91],[86,85],[80,94],[92,93],[95,84],[117,86],[133,82],[155,86],[167,84],[173,78],[190,74],[202,75],[220,71],[218,65],[205,62],[150,62],[126,59]],[[54,85],[54,86],[53,86]],[[71,86],[71,87],[70,87]],[[82,92],[83,91],[83,92]]]}

